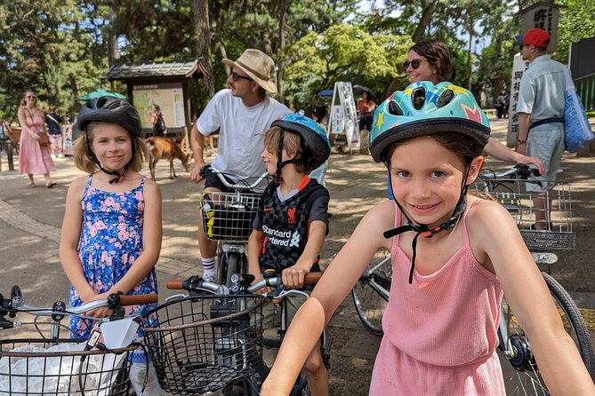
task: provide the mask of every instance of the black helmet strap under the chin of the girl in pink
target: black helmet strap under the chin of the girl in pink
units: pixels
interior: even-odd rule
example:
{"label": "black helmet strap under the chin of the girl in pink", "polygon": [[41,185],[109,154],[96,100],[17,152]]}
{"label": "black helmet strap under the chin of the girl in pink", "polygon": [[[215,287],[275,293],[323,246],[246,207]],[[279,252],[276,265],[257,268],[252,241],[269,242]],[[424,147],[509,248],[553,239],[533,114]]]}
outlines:
{"label": "black helmet strap under the chin of the girl in pink", "polygon": [[[392,180],[390,178],[390,162],[388,165],[389,165],[389,188],[390,188],[390,192],[392,192]],[[453,213],[450,215],[448,220],[446,220],[444,223],[442,223],[439,226],[434,227],[432,229],[430,229],[430,227],[425,224],[415,223],[411,218],[409,218],[406,211],[403,210],[403,207],[401,206],[401,204],[398,203],[397,198],[395,197],[395,194],[394,193],[392,194],[393,200],[397,204],[398,209],[401,211],[401,213],[403,213],[403,216],[405,216],[405,218],[407,220],[407,224],[406,224],[406,226],[398,226],[396,228],[385,231],[383,233],[383,235],[384,235],[384,238],[389,239],[389,238],[392,238],[393,236],[396,236],[398,234],[406,233],[407,231],[413,231],[414,233],[416,233],[414,236],[413,242],[411,242],[411,248],[413,249],[413,255],[411,257],[411,269],[409,270],[409,284],[412,284],[414,281],[415,257],[417,256],[417,239],[420,237],[420,235],[424,238],[431,238],[432,236],[434,236],[435,234],[438,234],[441,231],[445,231],[450,228],[453,228],[454,226],[456,226],[456,222],[461,217],[462,213],[465,211],[465,208],[467,207],[467,187],[468,187],[467,186],[467,178],[469,177],[469,170],[470,170],[470,166],[467,165],[467,171],[465,172],[465,178],[462,181],[461,195],[459,195],[459,201],[456,203]]]}

